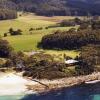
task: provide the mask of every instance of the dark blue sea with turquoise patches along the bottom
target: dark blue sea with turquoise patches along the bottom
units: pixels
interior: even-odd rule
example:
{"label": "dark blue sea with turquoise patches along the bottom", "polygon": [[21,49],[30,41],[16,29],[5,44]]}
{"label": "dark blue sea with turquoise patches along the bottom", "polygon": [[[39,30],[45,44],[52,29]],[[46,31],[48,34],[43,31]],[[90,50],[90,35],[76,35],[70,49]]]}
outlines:
{"label": "dark blue sea with turquoise patches along the bottom", "polygon": [[0,100],[100,100],[100,83],[73,86],[42,94],[1,96]]}

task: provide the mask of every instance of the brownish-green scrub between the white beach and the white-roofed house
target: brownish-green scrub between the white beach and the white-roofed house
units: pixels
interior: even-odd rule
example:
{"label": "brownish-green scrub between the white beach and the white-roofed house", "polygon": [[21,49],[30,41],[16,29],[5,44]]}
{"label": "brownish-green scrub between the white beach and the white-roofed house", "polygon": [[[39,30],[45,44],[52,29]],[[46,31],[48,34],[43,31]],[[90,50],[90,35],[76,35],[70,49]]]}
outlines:
{"label": "brownish-green scrub between the white beach and the white-roofed house", "polygon": [[25,73],[23,76],[38,78],[38,79],[55,79],[65,77],[67,73],[63,71],[66,68],[64,63],[57,62],[51,55],[35,54],[33,56],[25,56],[23,53],[13,53],[10,56],[13,65],[22,64]]}

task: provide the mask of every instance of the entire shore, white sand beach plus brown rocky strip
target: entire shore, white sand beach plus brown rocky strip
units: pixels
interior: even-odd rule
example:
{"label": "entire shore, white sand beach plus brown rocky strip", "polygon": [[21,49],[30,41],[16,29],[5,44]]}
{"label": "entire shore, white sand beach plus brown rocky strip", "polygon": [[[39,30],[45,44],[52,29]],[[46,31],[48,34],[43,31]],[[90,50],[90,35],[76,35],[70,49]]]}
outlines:
{"label": "entire shore, white sand beach plus brown rocky strip", "polygon": [[100,82],[100,72],[55,80],[37,80],[22,77],[21,73],[4,73],[4,76],[3,74],[0,76],[0,96],[45,93],[80,84],[94,84],[96,82]]}

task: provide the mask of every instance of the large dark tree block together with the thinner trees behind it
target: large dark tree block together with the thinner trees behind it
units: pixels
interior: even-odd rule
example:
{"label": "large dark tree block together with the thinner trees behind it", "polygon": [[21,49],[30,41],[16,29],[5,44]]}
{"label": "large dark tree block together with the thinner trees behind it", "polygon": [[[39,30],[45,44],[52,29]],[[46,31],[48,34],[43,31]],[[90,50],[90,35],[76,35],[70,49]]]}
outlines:
{"label": "large dark tree block together with the thinner trees behind it", "polygon": [[83,21],[75,18],[71,21],[62,21],[60,26],[80,25],[78,29],[71,28],[69,31],[56,31],[45,35],[38,46],[44,49],[80,49],[88,44],[100,44],[100,21]]}

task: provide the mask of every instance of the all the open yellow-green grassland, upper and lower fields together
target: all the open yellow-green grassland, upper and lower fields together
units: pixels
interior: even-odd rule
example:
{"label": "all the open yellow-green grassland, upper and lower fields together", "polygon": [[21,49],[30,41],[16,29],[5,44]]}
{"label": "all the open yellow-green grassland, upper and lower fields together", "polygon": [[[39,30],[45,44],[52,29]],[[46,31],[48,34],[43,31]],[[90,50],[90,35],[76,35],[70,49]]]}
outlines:
{"label": "all the open yellow-green grassland, upper and lower fields together", "polygon": [[[50,19],[51,18],[51,19]],[[0,35],[3,36],[4,33],[8,32],[9,28],[13,29],[21,29],[23,31],[23,35],[21,36],[7,36],[3,37],[9,41],[12,47],[16,51],[31,51],[31,50],[39,50],[37,48],[37,43],[41,41],[41,38],[46,35],[53,33],[56,30],[68,30],[71,27],[57,27],[57,28],[50,28],[45,29],[45,27],[49,25],[55,25],[57,22],[61,21],[61,19],[66,19],[67,17],[41,17],[41,16],[33,16],[33,15],[26,15],[21,16],[15,20],[4,20],[0,21]],[[68,17],[69,18],[69,17]],[[30,28],[39,28],[42,27],[42,30],[34,30],[32,34],[30,34]],[[64,53],[58,51],[46,51],[50,54],[60,54]],[[76,52],[68,53],[72,57],[75,57],[77,54]]]}

